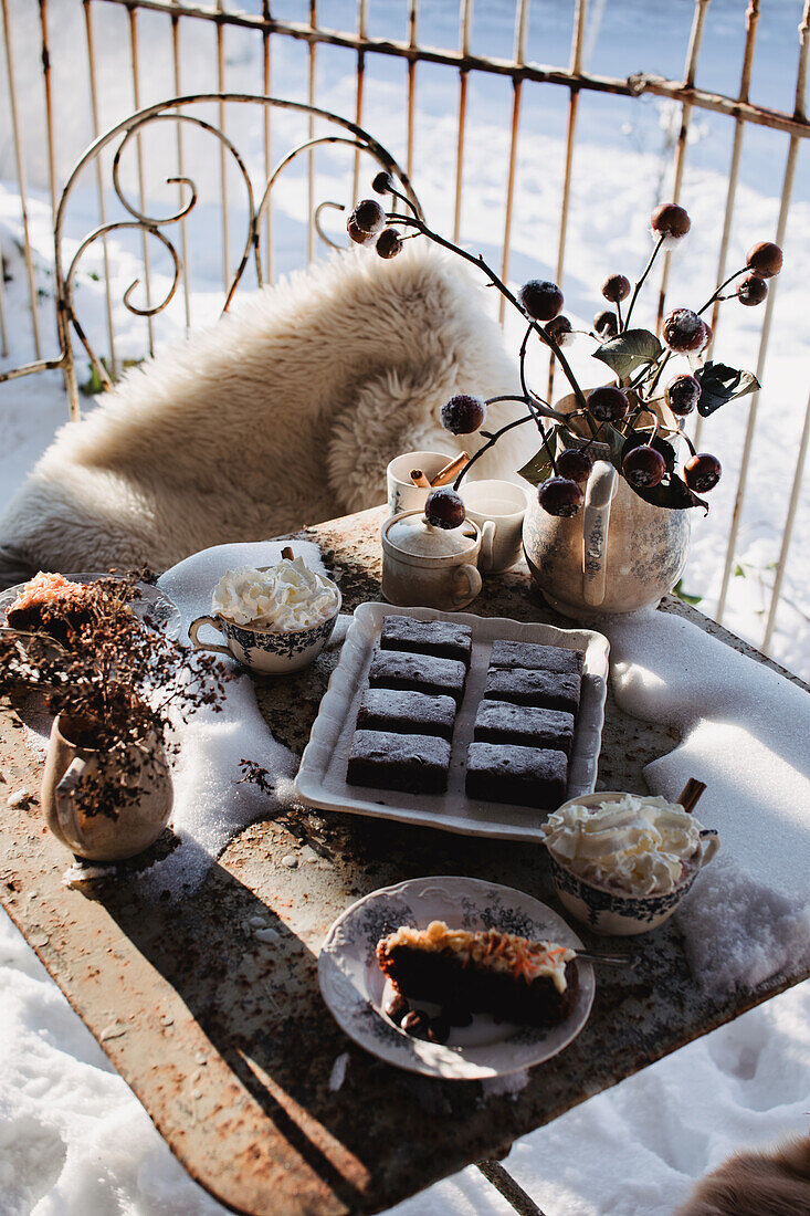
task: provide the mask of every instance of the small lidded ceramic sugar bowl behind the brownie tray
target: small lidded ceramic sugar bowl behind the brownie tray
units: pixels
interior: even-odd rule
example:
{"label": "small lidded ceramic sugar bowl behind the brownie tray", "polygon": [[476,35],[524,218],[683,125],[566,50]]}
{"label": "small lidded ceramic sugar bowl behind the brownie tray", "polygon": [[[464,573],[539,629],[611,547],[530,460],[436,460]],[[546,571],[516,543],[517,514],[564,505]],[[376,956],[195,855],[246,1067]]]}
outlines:
{"label": "small lidded ceramic sugar bowl behind the brownie tray", "polygon": [[401,511],[382,527],[382,591],[392,604],[424,604],[456,612],[482,589],[478,558],[491,524],[472,519],[460,528],[434,528],[421,511]]}

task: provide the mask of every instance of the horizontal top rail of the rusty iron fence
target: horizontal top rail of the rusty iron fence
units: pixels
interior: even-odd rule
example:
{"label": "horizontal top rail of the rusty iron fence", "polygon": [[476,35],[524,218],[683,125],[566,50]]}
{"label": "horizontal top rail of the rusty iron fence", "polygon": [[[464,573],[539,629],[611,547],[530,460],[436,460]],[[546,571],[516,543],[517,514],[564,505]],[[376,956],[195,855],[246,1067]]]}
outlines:
{"label": "horizontal top rail of the rusty iron fence", "polygon": [[[153,12],[171,12],[169,5],[173,0],[96,0],[97,4],[117,4],[125,9],[145,9]],[[324,43],[330,46],[343,46],[353,51],[367,51],[377,55],[390,55],[399,58],[414,58],[424,63],[444,63],[456,71],[467,69],[485,72],[494,75],[508,75],[513,79],[533,80],[539,84],[562,84],[568,88],[575,85],[578,89],[589,89],[595,92],[613,92],[624,97],[639,97],[641,94],[652,94],[658,97],[669,97],[673,101],[687,101],[699,109],[710,109],[716,113],[742,118],[744,122],[758,126],[770,126],[775,130],[786,131],[789,135],[798,135],[800,139],[810,136],[810,122],[804,118],[791,117],[777,109],[765,106],[755,106],[752,102],[742,105],[733,97],[725,94],[708,92],[704,89],[688,88],[681,80],[669,80],[654,73],[639,72],[625,79],[618,77],[595,75],[581,72],[578,77],[572,77],[564,68],[552,68],[536,63],[518,64],[510,60],[482,58],[469,55],[463,58],[459,51],[440,50],[433,46],[411,47],[407,43],[392,39],[360,39],[356,34],[343,30],[317,28],[297,24],[294,22],[282,22],[263,17],[251,17],[242,13],[218,16],[215,10],[201,9],[193,5],[182,4],[176,10],[182,17],[197,18],[199,21],[220,21],[227,26],[241,26],[246,29],[269,29],[272,34],[285,34],[289,38],[306,43]]]}

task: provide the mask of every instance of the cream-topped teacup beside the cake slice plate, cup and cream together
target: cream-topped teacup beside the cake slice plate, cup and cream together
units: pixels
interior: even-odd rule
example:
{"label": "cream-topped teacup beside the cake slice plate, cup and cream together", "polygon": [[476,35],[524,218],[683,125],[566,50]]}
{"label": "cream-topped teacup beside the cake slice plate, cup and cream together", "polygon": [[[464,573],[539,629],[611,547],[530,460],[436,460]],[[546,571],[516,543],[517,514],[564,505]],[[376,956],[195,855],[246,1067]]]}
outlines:
{"label": "cream-topped teacup beside the cake slice plate, cup and cream together", "polygon": [[600,792],[549,816],[544,839],[561,902],[596,933],[647,933],[666,921],[720,840],[677,803]]}

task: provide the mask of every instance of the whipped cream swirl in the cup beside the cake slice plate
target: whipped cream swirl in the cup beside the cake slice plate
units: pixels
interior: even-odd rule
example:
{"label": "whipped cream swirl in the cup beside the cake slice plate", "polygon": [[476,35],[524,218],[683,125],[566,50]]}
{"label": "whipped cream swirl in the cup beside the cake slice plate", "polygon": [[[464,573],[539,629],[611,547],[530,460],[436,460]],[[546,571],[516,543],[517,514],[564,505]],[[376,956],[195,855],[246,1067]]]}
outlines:
{"label": "whipped cream swirl in the cup beside the cake slice plate", "polygon": [[544,834],[557,861],[586,882],[660,895],[697,861],[702,827],[665,798],[624,794],[601,806],[563,806],[549,816]]}

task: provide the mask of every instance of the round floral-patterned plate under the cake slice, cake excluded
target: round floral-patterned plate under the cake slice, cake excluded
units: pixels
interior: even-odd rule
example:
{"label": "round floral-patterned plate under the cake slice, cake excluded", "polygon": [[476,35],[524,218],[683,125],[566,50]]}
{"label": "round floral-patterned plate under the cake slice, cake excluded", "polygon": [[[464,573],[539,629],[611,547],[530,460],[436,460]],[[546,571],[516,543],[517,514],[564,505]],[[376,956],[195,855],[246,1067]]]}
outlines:
{"label": "round floral-patterned plate under the cake slice, cake excluded", "polygon": [[[317,976],[332,1015],[366,1051],[398,1068],[451,1081],[477,1081],[518,1073],[551,1059],[587,1021],[594,968],[576,961],[579,992],[568,1018],[556,1026],[521,1026],[476,1014],[445,1045],[412,1038],[383,1013],[390,983],[377,966],[381,938],[401,924],[424,929],[445,921],[451,929],[500,929],[553,940],[579,950],[583,942],[545,903],[511,886],[477,878],[412,878],[358,900],[337,918],[321,946]],[[426,1002],[417,1002],[428,1008]]]}

